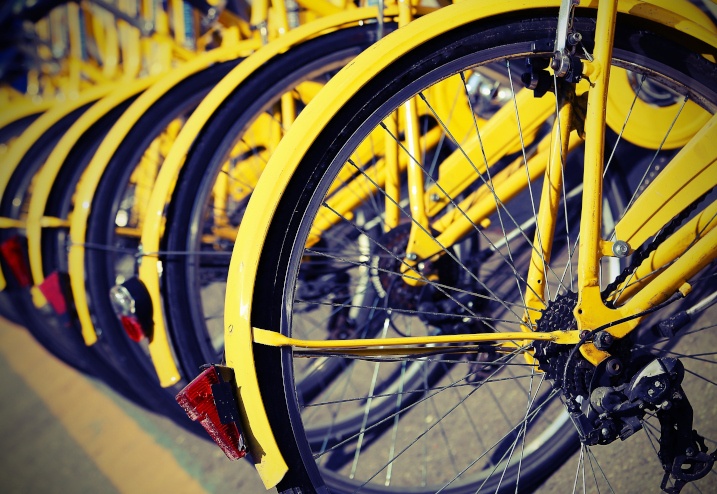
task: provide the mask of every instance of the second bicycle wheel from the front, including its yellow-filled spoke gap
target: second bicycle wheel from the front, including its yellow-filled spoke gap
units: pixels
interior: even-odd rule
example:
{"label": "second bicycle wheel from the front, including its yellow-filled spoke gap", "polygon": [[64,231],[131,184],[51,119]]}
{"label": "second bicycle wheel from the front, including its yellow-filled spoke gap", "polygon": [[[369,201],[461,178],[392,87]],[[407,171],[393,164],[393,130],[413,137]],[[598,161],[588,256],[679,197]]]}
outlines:
{"label": "second bicycle wheel from the front, including its yellow-filled spoke gap", "polygon": [[196,376],[223,353],[221,311],[231,247],[253,186],[287,130],[281,124],[282,95],[292,94],[300,111],[375,40],[375,26],[367,25],[292,47],[237,87],[198,135],[177,180],[162,243],[168,252],[162,255],[165,314],[184,375]]}

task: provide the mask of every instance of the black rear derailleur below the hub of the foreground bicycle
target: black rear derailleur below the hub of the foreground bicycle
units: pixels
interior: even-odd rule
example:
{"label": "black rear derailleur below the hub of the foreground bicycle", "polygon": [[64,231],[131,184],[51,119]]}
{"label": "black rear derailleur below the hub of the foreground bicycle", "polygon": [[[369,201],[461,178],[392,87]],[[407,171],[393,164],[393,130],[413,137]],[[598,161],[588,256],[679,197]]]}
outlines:
{"label": "black rear derailleur below the hub of the foreground bicycle", "polygon": [[[563,305],[570,306],[566,297]],[[550,331],[560,310],[546,309],[550,324],[538,329]],[[562,311],[567,314],[566,311]],[[546,314],[543,314],[545,317]],[[567,318],[562,322],[568,322]],[[565,326],[563,329],[572,329]],[[594,335],[596,346],[609,347],[611,358],[593,367],[571,348],[550,342],[535,343],[540,369],[562,390],[570,418],[580,441],[586,445],[610,444],[625,440],[643,427],[643,419],[660,422],[658,456],[664,470],[660,487],[676,494],[689,482],[707,475],[717,452],[708,452],[705,440],[692,429],[693,409],[682,389],[685,369],[679,359],[655,357],[629,348],[606,332]],[[626,339],[624,339],[626,340]]]}

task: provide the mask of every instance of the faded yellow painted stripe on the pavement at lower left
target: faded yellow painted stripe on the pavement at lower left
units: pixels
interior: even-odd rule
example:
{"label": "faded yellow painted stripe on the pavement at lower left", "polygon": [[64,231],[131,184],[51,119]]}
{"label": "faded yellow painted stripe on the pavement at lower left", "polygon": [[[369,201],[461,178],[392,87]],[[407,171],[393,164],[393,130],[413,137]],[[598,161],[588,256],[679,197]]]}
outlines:
{"label": "faded yellow painted stripe on the pavement at lower left", "polygon": [[29,333],[0,319],[0,352],[120,492],[204,493],[166,448]]}

